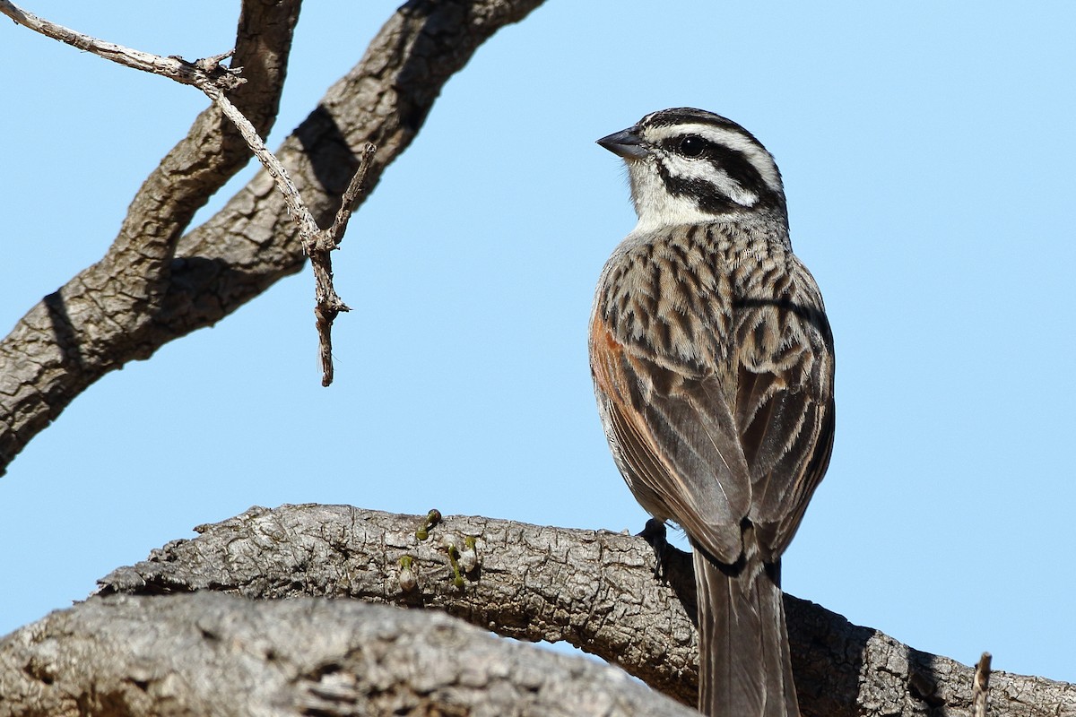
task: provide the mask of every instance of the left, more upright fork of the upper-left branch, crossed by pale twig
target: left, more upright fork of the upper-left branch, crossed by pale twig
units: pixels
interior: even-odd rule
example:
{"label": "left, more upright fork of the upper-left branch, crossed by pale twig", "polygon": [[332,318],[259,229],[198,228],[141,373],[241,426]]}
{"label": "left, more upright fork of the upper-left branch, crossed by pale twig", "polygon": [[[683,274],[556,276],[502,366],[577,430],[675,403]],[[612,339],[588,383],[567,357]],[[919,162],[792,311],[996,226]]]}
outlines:
{"label": "left, more upright fork of the upper-left branch, crossed by pale twig", "polygon": [[[236,33],[246,83],[232,102],[259,132],[277,118],[300,0],[244,0]],[[170,293],[175,246],[195,212],[250,161],[211,106],[150,174],[105,256],[31,309],[0,342],[0,474],[108,371],[148,358]]]}

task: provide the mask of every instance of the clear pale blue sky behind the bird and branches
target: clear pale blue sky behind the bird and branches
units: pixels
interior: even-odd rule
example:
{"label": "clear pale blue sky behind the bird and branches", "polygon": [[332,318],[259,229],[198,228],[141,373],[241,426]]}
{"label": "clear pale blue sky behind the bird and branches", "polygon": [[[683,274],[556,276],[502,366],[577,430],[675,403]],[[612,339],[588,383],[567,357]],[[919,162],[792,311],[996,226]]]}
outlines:
{"label": "clear pale blue sky behind the bird and branches", "polygon": [[[238,3],[26,9],[195,58],[231,46]],[[394,9],[307,4],[270,147]],[[641,529],[586,364],[594,284],[634,224],[594,140],[694,105],[777,157],[836,336],[836,447],[785,589],[919,649],[1076,682],[1073,27],[1070,2],[550,0],[448,84],[352,220],[331,388],[305,272],[105,376],[15,460],[0,633],[254,504]],[[0,33],[19,68],[0,77],[6,332],[100,258],[207,100]],[[314,422],[332,441],[312,447]]]}

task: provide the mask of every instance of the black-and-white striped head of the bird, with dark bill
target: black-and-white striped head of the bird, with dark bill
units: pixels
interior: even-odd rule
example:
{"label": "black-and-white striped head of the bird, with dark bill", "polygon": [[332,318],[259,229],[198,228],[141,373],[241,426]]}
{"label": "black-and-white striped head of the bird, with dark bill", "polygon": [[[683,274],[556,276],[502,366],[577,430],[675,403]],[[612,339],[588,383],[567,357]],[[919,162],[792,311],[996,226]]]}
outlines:
{"label": "black-and-white striped head of the bird, with dark bill", "polygon": [[731,119],[691,107],[662,110],[598,144],[627,162],[637,230],[745,213],[787,221],[774,157]]}

